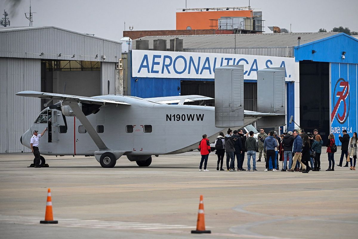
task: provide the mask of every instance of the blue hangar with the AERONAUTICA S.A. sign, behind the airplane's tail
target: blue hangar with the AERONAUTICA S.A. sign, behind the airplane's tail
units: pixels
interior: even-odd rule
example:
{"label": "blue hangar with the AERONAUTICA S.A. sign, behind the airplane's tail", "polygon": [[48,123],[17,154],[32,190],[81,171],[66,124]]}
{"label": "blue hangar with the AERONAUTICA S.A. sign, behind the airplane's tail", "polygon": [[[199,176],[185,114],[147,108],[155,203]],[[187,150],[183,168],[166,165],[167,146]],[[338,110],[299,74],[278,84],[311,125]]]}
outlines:
{"label": "blue hangar with the AERONAUTICA S.A. sign, behind the airplane's tail", "polygon": [[[169,40],[174,38],[183,40],[179,52],[170,51]],[[158,40],[166,46],[158,48]],[[293,115],[305,132],[319,129],[324,142],[330,133],[338,138],[344,129],[350,135],[357,131],[358,39],[347,34],[148,36],[134,40],[133,49],[124,56],[128,95],[214,97],[214,68],[243,64],[245,109],[256,110],[260,94],[256,71],[285,66],[288,119],[284,130],[298,128],[288,124]]]}

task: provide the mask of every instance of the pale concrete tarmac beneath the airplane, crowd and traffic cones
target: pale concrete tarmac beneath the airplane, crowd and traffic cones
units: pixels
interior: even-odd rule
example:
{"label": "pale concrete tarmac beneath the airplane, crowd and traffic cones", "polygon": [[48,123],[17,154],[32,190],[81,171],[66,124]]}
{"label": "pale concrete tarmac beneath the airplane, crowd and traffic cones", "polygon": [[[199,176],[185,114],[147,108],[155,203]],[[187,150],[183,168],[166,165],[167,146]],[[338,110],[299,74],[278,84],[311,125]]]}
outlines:
{"label": "pale concrete tarmac beneath the airplane, crowd and traffic cones", "polygon": [[[0,154],[0,238],[357,238],[358,171],[326,172],[326,153],[309,173],[263,172],[265,162],[216,171],[214,153],[199,172],[199,152],[153,156],[149,167],[122,157],[108,169],[94,157],[44,157],[49,168],[27,168],[31,153]],[[39,224],[47,188],[57,225]],[[200,195],[212,234],[190,234]]]}

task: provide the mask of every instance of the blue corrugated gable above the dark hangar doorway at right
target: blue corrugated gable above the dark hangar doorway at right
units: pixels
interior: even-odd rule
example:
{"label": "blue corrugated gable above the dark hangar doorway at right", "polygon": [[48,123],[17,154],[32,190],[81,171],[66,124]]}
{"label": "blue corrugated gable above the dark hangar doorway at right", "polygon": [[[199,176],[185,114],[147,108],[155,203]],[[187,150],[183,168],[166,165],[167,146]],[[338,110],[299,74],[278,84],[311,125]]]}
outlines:
{"label": "blue corrugated gable above the dark hangar doorway at right", "polygon": [[[312,53],[312,51],[315,51]],[[342,59],[342,52],[345,59]],[[311,60],[320,62],[358,63],[358,39],[339,33],[312,43],[295,47],[296,61]]]}

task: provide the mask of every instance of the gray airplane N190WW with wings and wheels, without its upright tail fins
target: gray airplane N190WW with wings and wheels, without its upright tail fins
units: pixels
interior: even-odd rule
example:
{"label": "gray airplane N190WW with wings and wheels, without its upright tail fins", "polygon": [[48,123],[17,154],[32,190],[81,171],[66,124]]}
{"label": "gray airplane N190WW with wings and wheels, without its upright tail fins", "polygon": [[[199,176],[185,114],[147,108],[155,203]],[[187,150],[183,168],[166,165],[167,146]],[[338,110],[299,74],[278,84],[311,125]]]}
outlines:
{"label": "gray airplane N190WW with wings and wheels, without its upright tail fins", "polygon": [[[237,66],[233,68],[237,70]],[[231,86],[232,82],[228,84]],[[30,148],[33,130],[41,132],[48,127],[48,132],[40,140],[40,154],[95,156],[103,168],[114,167],[123,155],[138,166],[147,167],[153,155],[158,157],[197,149],[203,134],[213,141],[219,132],[226,134],[228,126],[242,127],[262,117],[282,116],[275,112],[247,111],[242,106],[239,110],[243,119],[240,124],[235,121],[235,125],[221,125],[216,123],[219,103],[215,102],[218,105],[215,107],[184,105],[185,102],[213,99],[199,95],[146,99],[124,95],[84,97],[38,91],[21,91],[16,95],[48,99],[48,102],[60,100],[41,111],[30,129],[21,136],[21,144]],[[44,164],[45,159],[41,159],[41,164]]]}

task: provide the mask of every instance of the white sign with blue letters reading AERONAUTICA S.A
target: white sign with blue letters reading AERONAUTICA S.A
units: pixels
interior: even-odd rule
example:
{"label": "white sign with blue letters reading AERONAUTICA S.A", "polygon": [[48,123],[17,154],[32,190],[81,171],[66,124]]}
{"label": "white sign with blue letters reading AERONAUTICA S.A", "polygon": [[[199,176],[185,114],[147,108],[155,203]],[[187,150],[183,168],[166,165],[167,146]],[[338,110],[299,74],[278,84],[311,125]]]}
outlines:
{"label": "white sign with blue letters reading AERONAUTICA S.A", "polygon": [[215,68],[244,65],[244,78],[257,79],[257,70],[285,67],[286,80],[298,80],[299,63],[294,58],[241,54],[132,51],[132,77],[213,79]]}

